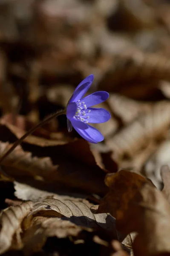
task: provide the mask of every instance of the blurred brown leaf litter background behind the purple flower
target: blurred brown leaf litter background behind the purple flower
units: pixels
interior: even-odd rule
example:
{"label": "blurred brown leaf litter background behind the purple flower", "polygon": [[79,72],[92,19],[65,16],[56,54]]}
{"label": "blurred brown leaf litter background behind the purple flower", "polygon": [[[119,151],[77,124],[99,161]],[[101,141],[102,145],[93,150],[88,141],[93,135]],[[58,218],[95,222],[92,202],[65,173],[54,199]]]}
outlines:
{"label": "blurred brown leaf litter background behind the purple flower", "polygon": [[[95,125],[105,140],[92,147],[107,154],[110,172],[115,161],[155,177],[156,166],[158,185],[160,166],[169,163],[169,57],[168,0],[0,0],[1,123],[28,130],[66,107],[93,73],[90,90],[110,93],[102,106],[112,119]],[[68,134],[65,116],[34,134],[79,137]],[[2,125],[0,139],[15,140]]]}

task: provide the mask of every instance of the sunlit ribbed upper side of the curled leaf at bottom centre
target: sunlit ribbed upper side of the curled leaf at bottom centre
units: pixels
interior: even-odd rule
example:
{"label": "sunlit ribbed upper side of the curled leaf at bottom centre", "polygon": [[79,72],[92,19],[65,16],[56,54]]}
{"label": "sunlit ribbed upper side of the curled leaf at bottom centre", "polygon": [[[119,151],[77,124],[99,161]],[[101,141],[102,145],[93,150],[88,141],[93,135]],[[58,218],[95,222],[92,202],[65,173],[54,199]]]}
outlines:
{"label": "sunlit ribbed upper side of the curled leaf at bottom centre", "polygon": [[[54,196],[55,197],[55,196]],[[90,228],[102,228],[108,230],[113,236],[115,233],[114,224],[115,220],[108,214],[93,214],[90,210],[92,204],[85,199],[65,199],[59,200],[58,198],[46,198],[45,201],[37,202],[34,205],[30,215],[40,214],[46,216],[51,214],[65,217],[78,226]],[[107,221],[106,221],[107,220]]]}

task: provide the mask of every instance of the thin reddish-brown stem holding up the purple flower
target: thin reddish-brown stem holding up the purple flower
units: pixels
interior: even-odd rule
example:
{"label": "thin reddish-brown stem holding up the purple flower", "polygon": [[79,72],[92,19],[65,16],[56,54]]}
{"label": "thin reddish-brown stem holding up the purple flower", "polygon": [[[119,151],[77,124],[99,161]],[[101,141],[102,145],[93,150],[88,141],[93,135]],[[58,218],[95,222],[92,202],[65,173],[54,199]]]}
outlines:
{"label": "thin reddish-brown stem holding up the purple flower", "polygon": [[47,122],[51,121],[53,118],[66,114],[66,110],[58,111],[57,113],[53,113],[50,116],[47,116],[43,121],[41,121],[39,124],[35,125],[33,128],[31,128],[29,131],[27,131],[19,140],[15,141],[11,148],[9,148],[8,151],[0,158],[0,163],[17,147],[17,145],[20,145],[23,140],[30,134],[32,134],[37,128],[41,127],[42,125],[46,124]]}

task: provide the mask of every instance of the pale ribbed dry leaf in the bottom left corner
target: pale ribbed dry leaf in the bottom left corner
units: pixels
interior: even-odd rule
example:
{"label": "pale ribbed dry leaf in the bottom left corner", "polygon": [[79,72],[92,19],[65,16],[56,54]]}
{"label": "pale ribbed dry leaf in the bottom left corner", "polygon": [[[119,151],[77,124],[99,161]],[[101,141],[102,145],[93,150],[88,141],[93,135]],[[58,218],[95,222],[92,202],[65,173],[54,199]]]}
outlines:
{"label": "pale ribbed dry leaf in the bottom left corner", "polygon": [[26,202],[19,206],[6,208],[0,213],[0,253],[4,253],[13,245],[17,249],[22,246],[20,238],[21,222],[32,210],[32,207],[32,202]]}

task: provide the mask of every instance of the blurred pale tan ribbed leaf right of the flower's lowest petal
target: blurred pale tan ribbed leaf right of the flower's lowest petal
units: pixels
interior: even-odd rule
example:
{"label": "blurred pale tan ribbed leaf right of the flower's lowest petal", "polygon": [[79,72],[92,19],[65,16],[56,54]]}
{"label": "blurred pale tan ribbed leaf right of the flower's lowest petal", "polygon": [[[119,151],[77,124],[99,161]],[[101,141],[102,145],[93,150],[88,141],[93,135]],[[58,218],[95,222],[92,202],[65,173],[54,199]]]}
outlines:
{"label": "blurred pale tan ribbed leaf right of the flower's lowest petal", "polygon": [[157,139],[164,139],[170,125],[170,103],[159,102],[107,140],[116,157],[134,157],[136,152]]}

